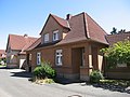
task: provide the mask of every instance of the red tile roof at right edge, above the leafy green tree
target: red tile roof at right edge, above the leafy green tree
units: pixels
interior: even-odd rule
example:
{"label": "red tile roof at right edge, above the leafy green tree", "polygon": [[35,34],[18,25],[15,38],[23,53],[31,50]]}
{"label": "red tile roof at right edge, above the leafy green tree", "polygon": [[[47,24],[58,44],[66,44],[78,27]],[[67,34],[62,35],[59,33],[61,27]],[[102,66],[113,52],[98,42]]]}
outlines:
{"label": "red tile roof at right edge, above the leafy green tree", "polygon": [[109,43],[109,45],[113,45],[114,43],[117,43],[119,41],[130,40],[130,31],[117,33],[117,34],[108,34],[106,36],[106,39]]}

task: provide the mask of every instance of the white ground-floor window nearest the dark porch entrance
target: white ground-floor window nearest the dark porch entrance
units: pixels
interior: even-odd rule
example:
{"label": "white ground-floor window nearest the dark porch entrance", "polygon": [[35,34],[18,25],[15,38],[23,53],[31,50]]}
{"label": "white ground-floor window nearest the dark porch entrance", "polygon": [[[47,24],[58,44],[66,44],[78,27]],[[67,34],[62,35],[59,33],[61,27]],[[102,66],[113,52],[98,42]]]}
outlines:
{"label": "white ground-floor window nearest the dark porch entrance", "polygon": [[55,64],[56,66],[62,66],[62,50],[56,50],[56,55],[55,55]]}

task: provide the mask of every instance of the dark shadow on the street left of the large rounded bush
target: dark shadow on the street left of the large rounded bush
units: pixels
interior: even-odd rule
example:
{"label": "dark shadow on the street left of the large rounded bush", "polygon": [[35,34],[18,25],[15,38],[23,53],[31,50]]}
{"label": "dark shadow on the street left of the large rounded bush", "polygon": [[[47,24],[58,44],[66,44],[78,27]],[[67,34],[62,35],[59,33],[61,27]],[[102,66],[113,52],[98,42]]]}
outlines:
{"label": "dark shadow on the street left of the large rounded bush", "polygon": [[11,77],[17,77],[17,78],[31,78],[32,73],[27,71],[20,71],[20,72],[11,72],[13,73]]}

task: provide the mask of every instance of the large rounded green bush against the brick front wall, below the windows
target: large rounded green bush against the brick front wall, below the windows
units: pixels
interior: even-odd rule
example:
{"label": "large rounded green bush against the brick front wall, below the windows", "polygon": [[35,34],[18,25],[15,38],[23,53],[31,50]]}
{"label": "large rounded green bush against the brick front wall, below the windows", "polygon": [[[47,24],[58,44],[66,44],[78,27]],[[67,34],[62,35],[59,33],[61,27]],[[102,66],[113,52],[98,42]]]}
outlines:
{"label": "large rounded green bush against the brick front wall, below the windows", "polygon": [[32,73],[37,79],[54,79],[56,77],[56,71],[51,68],[49,63],[42,63],[41,66],[36,67]]}

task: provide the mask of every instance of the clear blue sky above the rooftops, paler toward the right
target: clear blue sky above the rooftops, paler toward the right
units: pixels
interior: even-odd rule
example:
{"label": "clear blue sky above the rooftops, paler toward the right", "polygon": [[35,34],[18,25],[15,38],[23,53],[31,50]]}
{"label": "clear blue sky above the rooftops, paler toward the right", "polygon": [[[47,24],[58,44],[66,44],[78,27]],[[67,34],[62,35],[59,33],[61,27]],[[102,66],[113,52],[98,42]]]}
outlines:
{"label": "clear blue sky above the rooftops, paler toward the right", "polygon": [[10,33],[40,37],[50,13],[65,18],[81,12],[107,33],[113,27],[130,30],[130,0],[0,0],[0,50],[5,50]]}

